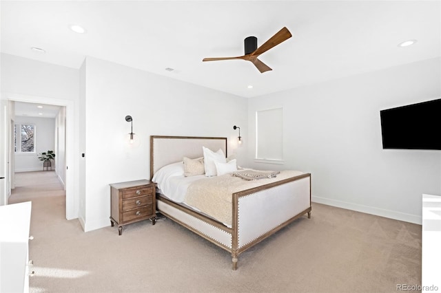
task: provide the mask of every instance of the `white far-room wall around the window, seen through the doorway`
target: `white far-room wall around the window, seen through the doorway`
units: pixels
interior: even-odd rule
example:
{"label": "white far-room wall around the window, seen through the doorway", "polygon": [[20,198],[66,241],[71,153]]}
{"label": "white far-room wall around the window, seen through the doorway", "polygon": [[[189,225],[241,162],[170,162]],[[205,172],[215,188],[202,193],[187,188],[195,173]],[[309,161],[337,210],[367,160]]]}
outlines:
{"label": "white far-room wall around the window, seen through the doorway", "polygon": [[[15,153],[15,172],[43,171],[43,162],[38,158],[39,153],[55,151],[55,118],[39,118],[15,116],[15,124],[34,124],[34,153]],[[55,153],[57,158],[57,153]],[[52,170],[55,170],[52,161]]]}

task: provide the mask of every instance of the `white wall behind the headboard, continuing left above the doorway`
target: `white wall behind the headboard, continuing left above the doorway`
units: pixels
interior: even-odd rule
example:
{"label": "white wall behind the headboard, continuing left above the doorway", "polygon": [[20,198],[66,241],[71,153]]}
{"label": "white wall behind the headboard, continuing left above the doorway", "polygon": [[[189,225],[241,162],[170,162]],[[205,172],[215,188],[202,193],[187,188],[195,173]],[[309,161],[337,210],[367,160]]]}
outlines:
{"label": "white wall behind the headboard, continuing left above the doorway", "polygon": [[[79,217],[86,231],[110,224],[108,184],[150,178],[149,135],[227,136],[230,154],[246,146],[235,149],[233,130],[247,123],[245,98],[94,58],[72,69],[1,54],[1,76],[2,105],[3,100],[70,105],[65,116],[73,122],[68,119],[65,127],[73,142],[65,151],[73,157],[66,161],[74,176],[66,182],[73,188],[66,216]],[[126,115],[133,116],[134,132],[143,138],[139,149],[121,144],[130,131]]]}

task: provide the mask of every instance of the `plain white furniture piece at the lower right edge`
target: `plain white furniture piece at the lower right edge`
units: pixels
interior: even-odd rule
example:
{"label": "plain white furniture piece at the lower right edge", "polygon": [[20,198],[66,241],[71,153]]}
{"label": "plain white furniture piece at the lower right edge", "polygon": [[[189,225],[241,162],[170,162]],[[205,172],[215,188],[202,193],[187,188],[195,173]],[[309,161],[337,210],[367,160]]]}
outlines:
{"label": "plain white furniture piece at the lower right edge", "polygon": [[441,196],[422,195],[422,292],[441,290]]}

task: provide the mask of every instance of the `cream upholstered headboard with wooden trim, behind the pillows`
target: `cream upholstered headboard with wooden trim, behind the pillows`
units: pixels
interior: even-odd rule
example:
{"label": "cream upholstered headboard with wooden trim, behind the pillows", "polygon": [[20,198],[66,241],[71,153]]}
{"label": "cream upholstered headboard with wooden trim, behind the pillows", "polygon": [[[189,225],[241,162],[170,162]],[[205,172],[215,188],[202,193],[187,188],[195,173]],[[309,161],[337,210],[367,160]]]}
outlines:
{"label": "cream upholstered headboard with wooden trim, behind the pillows", "polygon": [[150,179],[161,167],[179,162],[183,157],[203,156],[202,146],[227,155],[227,138],[205,138],[194,136],[150,136]]}

